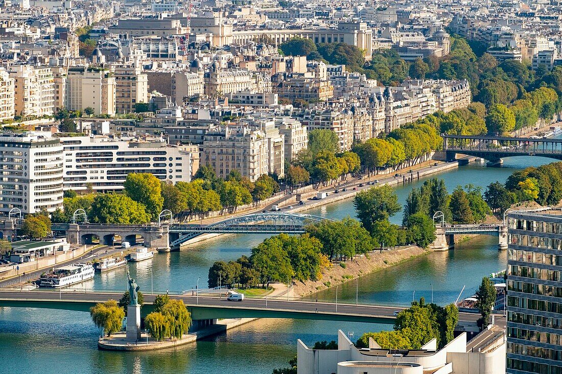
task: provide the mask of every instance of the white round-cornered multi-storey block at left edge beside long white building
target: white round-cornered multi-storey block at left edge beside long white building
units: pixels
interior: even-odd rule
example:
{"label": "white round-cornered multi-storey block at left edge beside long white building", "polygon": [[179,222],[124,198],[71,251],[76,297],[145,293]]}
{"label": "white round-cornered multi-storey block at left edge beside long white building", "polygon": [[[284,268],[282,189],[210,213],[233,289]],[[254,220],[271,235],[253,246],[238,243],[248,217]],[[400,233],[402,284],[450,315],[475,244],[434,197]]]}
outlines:
{"label": "white round-cornered multi-storey block at left edge beside long white building", "polygon": [[63,150],[48,132],[0,134],[0,213],[62,207]]}

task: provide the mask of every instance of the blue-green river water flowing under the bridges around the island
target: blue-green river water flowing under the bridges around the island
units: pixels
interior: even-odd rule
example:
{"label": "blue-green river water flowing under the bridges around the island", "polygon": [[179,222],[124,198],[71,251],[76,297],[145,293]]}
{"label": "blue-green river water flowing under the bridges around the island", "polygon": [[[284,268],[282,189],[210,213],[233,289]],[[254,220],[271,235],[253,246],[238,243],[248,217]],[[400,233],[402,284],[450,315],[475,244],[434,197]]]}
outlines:
{"label": "blue-green river water flowing under the bridges around the island", "polygon": [[[451,191],[457,185],[472,183],[483,189],[495,181],[504,182],[514,170],[552,162],[550,159],[519,157],[505,159],[501,168],[483,164],[462,166],[435,175],[445,180]],[[433,176],[432,176],[433,177]],[[407,194],[423,180],[396,188],[404,204]],[[354,216],[352,200],[311,209],[309,213],[330,218]],[[400,213],[393,217],[400,223]],[[130,263],[131,275],[141,290],[182,291],[206,286],[207,272],[214,261],[249,255],[261,235],[223,235],[196,243],[181,252],[157,254],[152,261]],[[371,273],[339,287],[338,299],[359,302],[407,304],[415,297],[445,304],[456,300],[463,286],[463,297],[473,294],[483,276],[505,268],[506,252],[498,252],[497,237],[479,236],[454,250],[431,253],[407,263]],[[88,288],[125,290],[126,270],[96,275]],[[433,293],[432,293],[433,289]],[[322,291],[320,299],[333,299],[334,290]],[[363,332],[391,329],[388,325],[334,323],[330,321],[266,320],[241,326],[228,334],[176,350],[141,353],[114,353],[97,350],[100,331],[88,313],[49,309],[0,308],[0,352],[2,372],[25,374],[85,373],[248,373],[269,374],[273,368],[287,366],[296,354],[296,340],[307,344],[318,340],[337,340],[337,330],[358,339]]]}

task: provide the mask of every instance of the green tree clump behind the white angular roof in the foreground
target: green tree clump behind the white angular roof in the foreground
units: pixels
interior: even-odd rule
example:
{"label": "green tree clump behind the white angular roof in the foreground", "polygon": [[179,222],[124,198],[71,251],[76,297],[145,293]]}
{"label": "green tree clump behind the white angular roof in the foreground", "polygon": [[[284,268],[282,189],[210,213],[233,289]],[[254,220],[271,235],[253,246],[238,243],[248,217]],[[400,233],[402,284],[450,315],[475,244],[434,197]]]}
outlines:
{"label": "green tree clump behind the white angular roof in the foreground", "polygon": [[369,337],[385,349],[420,349],[432,339],[437,339],[438,348],[443,348],[454,339],[455,326],[459,322],[459,309],[455,304],[440,307],[419,303],[398,313],[393,331],[366,332],[357,340],[357,348],[368,348]]}

